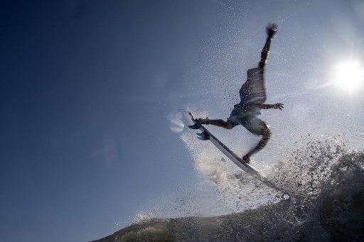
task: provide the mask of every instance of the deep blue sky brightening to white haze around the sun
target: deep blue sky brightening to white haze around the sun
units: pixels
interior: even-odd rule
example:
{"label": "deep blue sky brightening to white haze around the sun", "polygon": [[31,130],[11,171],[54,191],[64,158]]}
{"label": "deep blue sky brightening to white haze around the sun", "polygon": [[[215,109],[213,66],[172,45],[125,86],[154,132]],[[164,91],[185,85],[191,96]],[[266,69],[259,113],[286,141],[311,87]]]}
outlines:
{"label": "deep blue sky brightening to white haze around the sun", "polygon": [[204,180],[171,119],[226,119],[267,23],[285,108],[262,112],[256,159],[308,134],[363,148],[363,1],[4,0],[0,18],[1,241],[92,241]]}

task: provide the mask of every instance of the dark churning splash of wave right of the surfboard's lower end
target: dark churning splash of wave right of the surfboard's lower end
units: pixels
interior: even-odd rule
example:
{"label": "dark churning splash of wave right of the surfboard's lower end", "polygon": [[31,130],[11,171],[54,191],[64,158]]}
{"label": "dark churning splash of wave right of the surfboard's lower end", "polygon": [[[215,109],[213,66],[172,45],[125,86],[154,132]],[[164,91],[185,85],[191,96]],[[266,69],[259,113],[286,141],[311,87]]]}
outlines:
{"label": "dark churning splash of wave right of the surfboard's lower end", "polygon": [[274,182],[291,194],[286,211],[278,213],[285,218],[284,240],[363,240],[363,151],[336,138],[309,141],[282,159]]}

